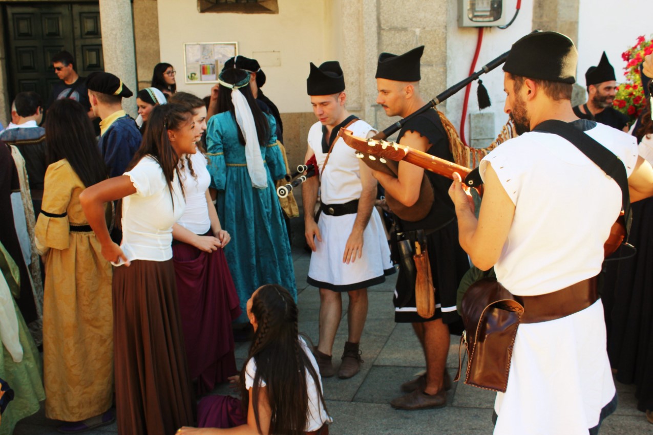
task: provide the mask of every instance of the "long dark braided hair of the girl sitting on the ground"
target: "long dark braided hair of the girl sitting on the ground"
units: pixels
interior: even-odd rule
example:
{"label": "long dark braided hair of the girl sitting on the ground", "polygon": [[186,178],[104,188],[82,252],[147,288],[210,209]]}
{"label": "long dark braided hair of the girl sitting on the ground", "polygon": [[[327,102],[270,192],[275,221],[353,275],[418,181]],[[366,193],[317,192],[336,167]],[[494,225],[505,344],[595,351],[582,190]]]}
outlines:
{"label": "long dark braided hair of the girl sitting on the ground", "polygon": [[[278,284],[259,288],[252,299],[251,313],[258,328],[247,361],[256,362],[252,405],[259,423],[261,381],[265,382],[270,405],[270,434],[303,435],[308,421],[307,376],[313,378],[319,400],[326,409],[320,378],[302,348],[297,330],[297,305],[288,290]],[[249,394],[245,387],[246,367],[240,374],[242,406],[247,413]]]}

